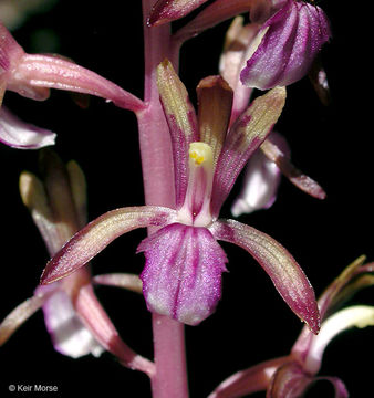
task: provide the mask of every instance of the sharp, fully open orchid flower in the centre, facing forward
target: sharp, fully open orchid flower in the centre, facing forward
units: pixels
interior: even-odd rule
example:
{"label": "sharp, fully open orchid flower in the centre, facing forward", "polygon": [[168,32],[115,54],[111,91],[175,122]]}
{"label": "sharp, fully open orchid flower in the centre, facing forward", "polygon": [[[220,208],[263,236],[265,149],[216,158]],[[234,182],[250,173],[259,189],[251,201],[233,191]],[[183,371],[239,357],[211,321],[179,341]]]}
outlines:
{"label": "sharp, fully open orchid flower in the centre, facing forward", "polygon": [[218,219],[237,176],[281,114],[284,87],[256,100],[227,133],[232,91],[221,77],[210,76],[199,84],[197,121],[187,91],[167,60],[157,76],[172,136],[176,208],[143,206],[101,216],[54,255],[41,282],[72,274],[125,232],[156,226],[159,230],[137,249],[146,258],[141,279],[152,312],[189,325],[209,316],[221,295],[227,258],[217,240],[224,240],[252,254],[291,310],[318,333],[314,292],[291,254],[254,228]]}

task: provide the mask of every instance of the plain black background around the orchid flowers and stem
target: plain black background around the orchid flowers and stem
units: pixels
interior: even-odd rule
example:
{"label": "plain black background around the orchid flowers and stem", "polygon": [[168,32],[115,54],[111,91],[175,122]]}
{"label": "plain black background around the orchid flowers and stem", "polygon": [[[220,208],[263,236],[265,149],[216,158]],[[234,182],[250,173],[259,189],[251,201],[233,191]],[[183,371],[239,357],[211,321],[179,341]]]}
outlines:
{"label": "plain black background around the orchid flowers and stem", "polygon": [[[288,88],[287,106],[277,129],[288,138],[293,163],[324,187],[328,198],[310,198],[283,179],[271,209],[240,218],[288,248],[318,295],[359,255],[374,260],[372,82],[365,71],[370,25],[365,13],[353,11],[354,6],[347,9],[328,1],[320,6],[333,30],[333,39],[322,52],[332,104],[323,106],[308,78],[303,78]],[[61,53],[142,96],[141,15],[141,1],[107,0],[103,4],[60,0],[13,34],[27,52]],[[225,23],[183,48],[181,77],[193,98],[199,80],[217,73],[227,28]],[[53,40],[41,41],[41,34]],[[89,184],[90,219],[144,202],[136,119],[131,113],[100,98],[91,98],[91,106],[81,109],[69,93],[55,91],[44,103],[14,93],[7,93],[4,103],[25,121],[56,132],[54,149],[64,160],[80,163]],[[19,174],[23,169],[38,170],[38,151],[1,146],[0,167],[2,318],[32,295],[48,254],[18,193]],[[230,217],[229,207],[237,192],[238,188],[229,197],[222,217]],[[95,259],[94,273],[139,273],[144,259],[135,255],[135,249],[144,235],[144,231],[136,231],[117,239]],[[201,325],[186,328],[193,397],[206,397],[239,369],[288,354],[302,327],[254,260],[238,248],[222,245],[230,271],[224,275],[222,301]],[[150,315],[143,298],[110,287],[97,289],[97,295],[123,338],[152,357]],[[354,302],[373,303],[373,292],[360,294]],[[320,374],[341,377],[352,397],[372,394],[373,333],[373,328],[344,333],[325,352]],[[8,392],[9,384],[56,385],[59,395],[65,397],[74,392],[149,396],[147,378],[123,369],[108,354],[101,359],[74,360],[55,353],[41,312],[0,349],[0,363],[1,397],[15,396]],[[310,396],[333,396],[329,386],[322,384],[321,388]]]}

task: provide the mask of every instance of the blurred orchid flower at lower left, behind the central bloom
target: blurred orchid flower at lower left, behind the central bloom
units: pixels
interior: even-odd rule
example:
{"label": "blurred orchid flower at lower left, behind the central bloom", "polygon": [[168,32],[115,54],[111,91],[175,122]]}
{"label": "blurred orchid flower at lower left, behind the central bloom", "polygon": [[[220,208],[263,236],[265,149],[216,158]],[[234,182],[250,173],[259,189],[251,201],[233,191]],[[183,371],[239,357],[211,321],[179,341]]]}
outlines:
{"label": "blurred orchid flower at lower left, behind the central bloom", "polygon": [[[85,179],[76,163],[70,161],[65,168],[51,151],[42,154],[41,164],[44,182],[23,172],[20,191],[50,255],[53,255],[86,223]],[[107,279],[104,277],[106,284]],[[31,298],[0,324],[0,345],[40,307],[59,353],[79,358],[87,354],[100,356],[105,349],[125,366],[149,375],[153,373],[153,364],[136,355],[118,336],[93,292],[89,266],[63,281],[39,286]]]}

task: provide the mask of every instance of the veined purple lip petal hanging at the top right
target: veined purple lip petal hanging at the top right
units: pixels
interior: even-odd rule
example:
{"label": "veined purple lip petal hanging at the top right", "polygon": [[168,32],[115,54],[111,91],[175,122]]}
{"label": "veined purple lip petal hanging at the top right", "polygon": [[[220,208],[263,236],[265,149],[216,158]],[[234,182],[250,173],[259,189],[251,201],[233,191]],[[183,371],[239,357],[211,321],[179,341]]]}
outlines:
{"label": "veined purple lip petal hanging at the top right", "polygon": [[263,35],[261,43],[241,72],[241,81],[267,90],[303,77],[331,33],[319,7],[289,0],[262,25],[259,35]]}

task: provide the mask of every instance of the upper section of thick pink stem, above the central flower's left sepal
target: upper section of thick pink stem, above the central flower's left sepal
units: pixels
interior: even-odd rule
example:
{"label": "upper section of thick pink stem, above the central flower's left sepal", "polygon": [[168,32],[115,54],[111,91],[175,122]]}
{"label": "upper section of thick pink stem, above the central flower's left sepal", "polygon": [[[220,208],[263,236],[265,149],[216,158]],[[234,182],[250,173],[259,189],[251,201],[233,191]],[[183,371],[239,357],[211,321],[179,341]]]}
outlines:
{"label": "upper section of thick pink stem, above the central flower's left sepal", "polygon": [[145,201],[174,208],[172,143],[156,84],[156,66],[170,53],[170,28],[146,25],[150,2],[143,0],[146,108],[137,113]]}

